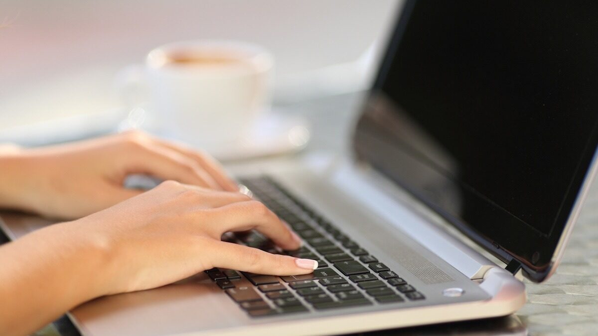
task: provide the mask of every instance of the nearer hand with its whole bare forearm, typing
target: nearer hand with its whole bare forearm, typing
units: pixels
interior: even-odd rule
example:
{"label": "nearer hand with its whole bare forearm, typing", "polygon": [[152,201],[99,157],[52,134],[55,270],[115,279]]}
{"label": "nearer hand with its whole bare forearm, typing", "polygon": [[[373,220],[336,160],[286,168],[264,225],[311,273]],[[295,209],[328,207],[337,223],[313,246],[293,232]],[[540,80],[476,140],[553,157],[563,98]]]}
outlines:
{"label": "nearer hand with its whole bare forearm, typing", "polygon": [[155,288],[212,267],[276,275],[317,267],[220,240],[250,229],[283,249],[300,247],[264,204],[173,181],[30,233],[0,247],[0,334],[26,334],[92,298]]}

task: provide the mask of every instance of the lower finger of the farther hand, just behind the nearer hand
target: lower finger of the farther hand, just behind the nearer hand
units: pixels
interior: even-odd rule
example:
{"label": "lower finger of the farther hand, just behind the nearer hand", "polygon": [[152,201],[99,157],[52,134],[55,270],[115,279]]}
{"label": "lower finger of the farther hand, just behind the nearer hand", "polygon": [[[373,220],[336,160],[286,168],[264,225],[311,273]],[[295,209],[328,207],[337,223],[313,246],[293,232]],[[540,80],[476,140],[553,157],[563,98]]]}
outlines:
{"label": "lower finger of the farther hand, just behind the nearer hand", "polygon": [[173,179],[184,184],[199,185],[221,190],[219,184],[195,161],[168,148],[151,143],[137,143],[138,149],[132,152],[134,172],[148,173],[161,179]]}

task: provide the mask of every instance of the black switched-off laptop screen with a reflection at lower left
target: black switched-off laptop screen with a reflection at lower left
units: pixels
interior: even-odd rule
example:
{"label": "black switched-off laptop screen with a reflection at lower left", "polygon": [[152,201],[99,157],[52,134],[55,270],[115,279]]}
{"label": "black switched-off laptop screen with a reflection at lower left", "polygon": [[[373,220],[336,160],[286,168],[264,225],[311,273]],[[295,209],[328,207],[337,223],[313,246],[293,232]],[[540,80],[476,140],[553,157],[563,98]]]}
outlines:
{"label": "black switched-off laptop screen with a reflection at lower left", "polygon": [[366,110],[362,157],[545,268],[596,149],[598,2],[410,1]]}

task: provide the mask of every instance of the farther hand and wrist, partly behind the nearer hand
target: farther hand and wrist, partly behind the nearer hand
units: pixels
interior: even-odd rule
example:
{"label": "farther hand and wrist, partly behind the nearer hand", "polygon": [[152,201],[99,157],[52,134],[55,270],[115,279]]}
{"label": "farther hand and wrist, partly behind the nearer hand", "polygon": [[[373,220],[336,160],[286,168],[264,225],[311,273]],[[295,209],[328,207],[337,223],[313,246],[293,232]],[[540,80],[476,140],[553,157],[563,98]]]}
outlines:
{"label": "farther hand and wrist, partly behind the nearer hand", "polygon": [[209,155],[141,132],[0,156],[0,207],[54,218],[81,218],[136,196],[123,188],[130,174],[237,191]]}

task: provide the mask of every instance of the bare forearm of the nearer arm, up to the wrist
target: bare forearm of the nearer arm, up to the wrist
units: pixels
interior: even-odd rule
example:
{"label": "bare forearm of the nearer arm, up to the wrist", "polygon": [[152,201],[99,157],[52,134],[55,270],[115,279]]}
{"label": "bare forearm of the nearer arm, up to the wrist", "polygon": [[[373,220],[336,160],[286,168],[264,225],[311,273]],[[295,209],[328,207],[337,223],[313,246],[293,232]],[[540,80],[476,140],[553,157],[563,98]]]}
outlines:
{"label": "bare forearm of the nearer arm, up to the wrist", "polygon": [[24,335],[100,296],[105,249],[75,222],[0,247],[0,334]]}

